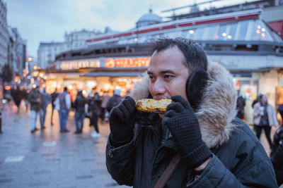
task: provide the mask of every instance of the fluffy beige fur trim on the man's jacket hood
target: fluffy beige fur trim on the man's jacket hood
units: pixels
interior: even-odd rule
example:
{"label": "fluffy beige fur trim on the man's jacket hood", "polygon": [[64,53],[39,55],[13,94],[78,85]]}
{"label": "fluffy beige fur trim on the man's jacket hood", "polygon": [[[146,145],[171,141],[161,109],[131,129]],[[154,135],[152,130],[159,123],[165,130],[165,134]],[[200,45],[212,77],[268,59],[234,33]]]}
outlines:
{"label": "fluffy beige fur trim on the man's jacket hood", "polygon": [[[213,148],[227,142],[231,132],[236,128],[232,120],[236,117],[237,94],[231,74],[222,65],[209,63],[207,73],[209,81],[196,115],[200,123],[202,140],[209,148]],[[149,96],[147,75],[134,86],[129,96],[135,100]]]}

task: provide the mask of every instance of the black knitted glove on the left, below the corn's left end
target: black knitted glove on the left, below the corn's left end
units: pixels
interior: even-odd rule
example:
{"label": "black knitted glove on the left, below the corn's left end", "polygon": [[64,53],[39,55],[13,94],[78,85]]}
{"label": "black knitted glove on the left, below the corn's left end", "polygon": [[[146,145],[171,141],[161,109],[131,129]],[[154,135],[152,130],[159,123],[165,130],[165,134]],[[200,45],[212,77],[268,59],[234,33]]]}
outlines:
{"label": "black knitted glove on the left, below the corn's left end", "polygon": [[133,138],[135,116],[135,102],[130,96],[126,96],[120,104],[112,108],[109,115],[109,124],[110,140],[113,146],[122,146]]}

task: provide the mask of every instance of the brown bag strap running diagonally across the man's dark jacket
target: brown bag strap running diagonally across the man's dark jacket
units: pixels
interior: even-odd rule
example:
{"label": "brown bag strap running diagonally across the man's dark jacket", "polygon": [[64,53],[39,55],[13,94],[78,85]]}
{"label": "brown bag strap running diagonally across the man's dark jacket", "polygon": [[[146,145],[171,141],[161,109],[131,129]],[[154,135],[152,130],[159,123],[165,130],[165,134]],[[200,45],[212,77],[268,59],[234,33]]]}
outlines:
{"label": "brown bag strap running diagonally across the man's dark jacket", "polygon": [[174,173],[179,163],[180,163],[180,155],[179,153],[176,153],[172,161],[169,163],[167,168],[164,170],[161,177],[159,177],[158,181],[154,185],[154,188],[163,188],[168,182],[168,180],[170,179],[171,175]]}

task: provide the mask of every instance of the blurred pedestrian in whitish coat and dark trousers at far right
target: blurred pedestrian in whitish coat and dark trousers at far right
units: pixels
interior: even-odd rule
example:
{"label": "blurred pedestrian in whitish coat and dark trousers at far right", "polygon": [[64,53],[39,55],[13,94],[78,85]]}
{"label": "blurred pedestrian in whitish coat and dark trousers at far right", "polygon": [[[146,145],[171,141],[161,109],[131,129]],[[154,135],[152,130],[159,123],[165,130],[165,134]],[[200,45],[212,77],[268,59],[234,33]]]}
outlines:
{"label": "blurred pedestrian in whitish coat and dark trousers at far right", "polygon": [[277,113],[275,108],[268,104],[267,96],[262,95],[260,101],[253,106],[253,125],[255,134],[260,139],[262,129],[265,130],[265,136],[267,138],[270,148],[272,141],[270,139],[271,126],[278,126]]}

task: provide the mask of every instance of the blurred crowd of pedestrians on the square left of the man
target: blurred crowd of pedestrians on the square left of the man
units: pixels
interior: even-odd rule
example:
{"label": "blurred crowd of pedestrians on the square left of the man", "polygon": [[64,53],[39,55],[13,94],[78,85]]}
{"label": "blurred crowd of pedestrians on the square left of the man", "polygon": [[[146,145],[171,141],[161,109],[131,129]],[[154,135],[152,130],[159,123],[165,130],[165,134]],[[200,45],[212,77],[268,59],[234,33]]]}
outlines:
{"label": "blurred crowd of pedestrians on the square left of the man", "polygon": [[[64,87],[63,92],[58,92],[56,89],[51,94],[46,92],[45,88],[40,88],[39,85],[32,89],[27,89],[25,86],[14,86],[11,88],[11,97],[7,98],[9,105],[15,104],[17,107],[16,113],[25,107],[28,111],[30,106],[30,132],[35,133],[37,130],[45,129],[45,117],[47,113],[47,106],[51,104],[51,125],[54,124],[54,110],[59,113],[60,133],[69,132],[67,129],[67,119],[69,112],[74,111],[74,121],[76,124],[76,131],[74,134],[81,134],[83,130],[83,123],[85,118],[89,118],[90,126],[93,126],[94,131],[91,137],[100,137],[98,129],[98,120],[108,123],[108,115],[111,109],[122,101],[120,96],[120,89],[116,89],[112,96],[110,92],[103,92],[99,94],[96,88],[88,94],[81,89],[77,89],[76,94],[68,91]],[[40,118],[40,127],[36,125],[37,118]]]}

